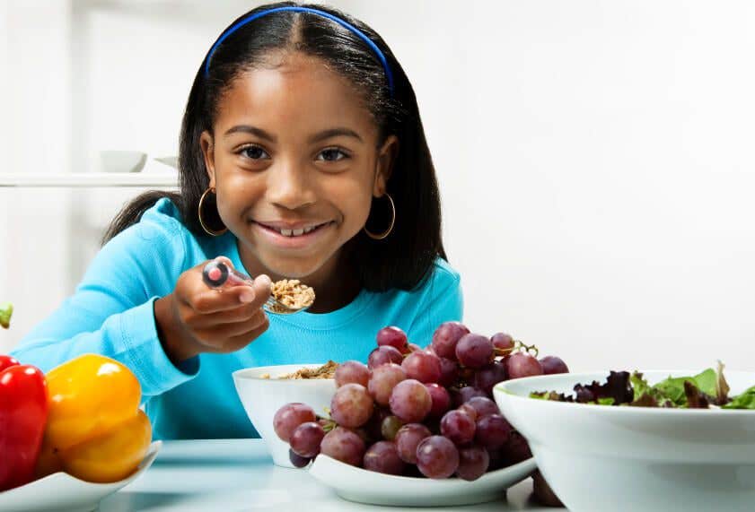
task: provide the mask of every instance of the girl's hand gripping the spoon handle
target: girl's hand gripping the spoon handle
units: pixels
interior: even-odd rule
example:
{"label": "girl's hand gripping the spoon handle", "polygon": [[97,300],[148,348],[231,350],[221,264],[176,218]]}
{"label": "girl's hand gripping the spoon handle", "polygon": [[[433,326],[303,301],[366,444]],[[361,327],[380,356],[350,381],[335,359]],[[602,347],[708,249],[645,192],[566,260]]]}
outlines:
{"label": "girl's hand gripping the spoon handle", "polygon": [[270,278],[263,274],[250,286],[212,289],[202,281],[206,263],[181,273],[175,290],[154,302],[160,341],[174,363],[201,352],[238,351],[268,329],[262,305],[270,296]]}

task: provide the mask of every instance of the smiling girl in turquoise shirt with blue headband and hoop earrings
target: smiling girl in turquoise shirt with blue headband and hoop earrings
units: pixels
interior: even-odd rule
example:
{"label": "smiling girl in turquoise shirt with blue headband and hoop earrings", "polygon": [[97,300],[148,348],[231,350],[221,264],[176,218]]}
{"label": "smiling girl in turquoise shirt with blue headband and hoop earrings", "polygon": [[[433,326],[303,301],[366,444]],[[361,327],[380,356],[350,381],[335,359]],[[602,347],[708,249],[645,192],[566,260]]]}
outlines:
{"label": "smiling girl in turquoise shirt with blue headband and hoop earrings", "polygon": [[[85,352],[138,377],[154,437],[257,437],[232,372],[366,360],[386,325],[425,346],[461,320],[435,170],[391,49],[321,5],[268,4],[207,52],[180,134],[180,193],[119,213],[75,294],[13,355],[48,371]],[[202,280],[227,257],[253,284]],[[317,295],[267,314],[271,279]]]}

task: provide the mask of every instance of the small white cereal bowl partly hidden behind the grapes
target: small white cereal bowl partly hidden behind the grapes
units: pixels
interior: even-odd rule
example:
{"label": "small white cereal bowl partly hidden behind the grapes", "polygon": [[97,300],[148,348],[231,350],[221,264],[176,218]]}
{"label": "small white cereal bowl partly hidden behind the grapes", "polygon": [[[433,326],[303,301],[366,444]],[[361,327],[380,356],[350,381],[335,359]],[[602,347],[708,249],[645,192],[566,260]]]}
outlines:
{"label": "small white cereal bowl partly hidden behind the grapes", "polygon": [[[276,378],[297,369],[320,368],[321,364],[288,364],[240,369],[233,372],[233,382],[241,404],[247,412],[251,424],[265,441],[273,463],[283,467],[294,467],[288,458],[288,443],[277,437],[273,430],[273,418],[278,409],[291,402],[301,402],[314,409],[315,414],[323,415],[330,407],[330,399],[336,392],[336,381],[332,378],[286,379]],[[268,374],[270,378],[262,376]]]}

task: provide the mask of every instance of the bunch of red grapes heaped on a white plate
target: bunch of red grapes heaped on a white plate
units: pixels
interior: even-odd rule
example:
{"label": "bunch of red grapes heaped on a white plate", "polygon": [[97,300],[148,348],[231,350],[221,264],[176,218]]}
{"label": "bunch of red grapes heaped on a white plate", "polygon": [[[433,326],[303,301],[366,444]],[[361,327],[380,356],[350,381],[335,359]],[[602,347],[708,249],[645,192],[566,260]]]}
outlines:
{"label": "bunch of red grapes heaped on a white plate", "polygon": [[380,473],[476,480],[531,456],[492,400],[493,386],[568,371],[508,334],[471,334],[459,322],[440,325],[425,350],[398,327],[381,329],[377,344],[366,366],[350,360],[336,369],[330,418],[306,404],[276,413],[296,467],[324,454]]}

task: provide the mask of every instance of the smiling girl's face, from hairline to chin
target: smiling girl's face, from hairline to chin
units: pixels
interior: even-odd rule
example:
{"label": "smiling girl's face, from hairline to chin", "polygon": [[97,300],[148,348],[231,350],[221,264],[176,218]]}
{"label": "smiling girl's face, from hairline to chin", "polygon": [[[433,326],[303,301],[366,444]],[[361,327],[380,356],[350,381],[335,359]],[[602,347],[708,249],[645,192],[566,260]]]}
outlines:
{"label": "smiling girl's face, from hairline to chin", "polygon": [[379,146],[378,135],[350,83],[315,57],[285,54],[233,82],[201,145],[251,273],[312,282],[334,272],[385,193],[398,141]]}

